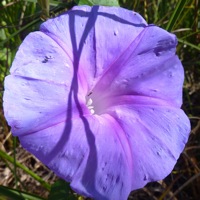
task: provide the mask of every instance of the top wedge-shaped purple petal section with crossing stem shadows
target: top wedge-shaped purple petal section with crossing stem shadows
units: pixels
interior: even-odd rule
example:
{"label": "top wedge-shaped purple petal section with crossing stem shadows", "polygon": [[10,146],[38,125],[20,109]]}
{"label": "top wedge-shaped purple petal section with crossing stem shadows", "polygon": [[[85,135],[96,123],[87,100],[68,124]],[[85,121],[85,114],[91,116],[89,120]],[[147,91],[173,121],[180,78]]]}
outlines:
{"label": "top wedge-shaped purple petal section with crossing stem shadows", "polygon": [[138,13],[123,8],[79,6],[49,19],[41,25],[41,31],[75,61],[75,68],[91,90],[97,81],[94,79],[109,68],[146,25]]}

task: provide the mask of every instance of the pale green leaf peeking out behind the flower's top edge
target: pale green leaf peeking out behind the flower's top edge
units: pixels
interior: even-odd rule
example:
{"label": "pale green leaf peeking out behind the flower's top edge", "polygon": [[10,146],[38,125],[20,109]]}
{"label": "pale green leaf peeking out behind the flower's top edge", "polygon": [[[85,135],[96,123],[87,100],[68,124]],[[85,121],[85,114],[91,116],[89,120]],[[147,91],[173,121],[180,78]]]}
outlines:
{"label": "pale green leaf peeking out behind the flower's top edge", "polygon": [[78,5],[119,6],[118,0],[75,0]]}

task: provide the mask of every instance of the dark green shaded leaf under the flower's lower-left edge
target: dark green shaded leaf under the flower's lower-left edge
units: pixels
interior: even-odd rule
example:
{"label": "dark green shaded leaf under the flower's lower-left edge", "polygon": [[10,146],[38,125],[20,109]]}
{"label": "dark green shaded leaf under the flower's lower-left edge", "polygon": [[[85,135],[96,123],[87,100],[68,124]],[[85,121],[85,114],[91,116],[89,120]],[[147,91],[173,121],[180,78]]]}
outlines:
{"label": "dark green shaded leaf under the flower's lower-left edge", "polygon": [[76,197],[71,193],[69,183],[58,180],[52,185],[48,200],[55,199],[76,200]]}

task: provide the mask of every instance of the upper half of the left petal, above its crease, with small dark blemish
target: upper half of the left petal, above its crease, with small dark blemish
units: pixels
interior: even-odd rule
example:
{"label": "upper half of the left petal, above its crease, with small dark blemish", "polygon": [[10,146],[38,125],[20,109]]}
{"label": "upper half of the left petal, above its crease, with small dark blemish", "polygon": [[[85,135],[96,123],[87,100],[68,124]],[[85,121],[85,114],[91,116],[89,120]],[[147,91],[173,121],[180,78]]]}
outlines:
{"label": "upper half of the left petal, above its crease, with small dark blemish", "polygon": [[30,33],[11,66],[12,75],[71,85],[73,63],[63,49],[42,32]]}

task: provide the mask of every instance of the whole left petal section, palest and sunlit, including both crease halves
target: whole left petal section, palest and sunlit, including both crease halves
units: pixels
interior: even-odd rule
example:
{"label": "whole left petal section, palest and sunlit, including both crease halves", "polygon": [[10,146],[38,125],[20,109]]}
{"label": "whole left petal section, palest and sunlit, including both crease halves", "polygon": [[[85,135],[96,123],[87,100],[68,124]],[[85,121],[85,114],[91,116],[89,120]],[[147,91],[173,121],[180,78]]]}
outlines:
{"label": "whole left petal section, palest and sunlit, including both crease halves", "polygon": [[[89,113],[86,93],[74,75],[72,61],[44,33],[34,32],[26,37],[10,71],[5,79],[3,105],[15,136],[68,120],[68,113],[70,118],[80,112]],[[81,109],[75,103],[75,89],[79,91],[76,98]]]}

